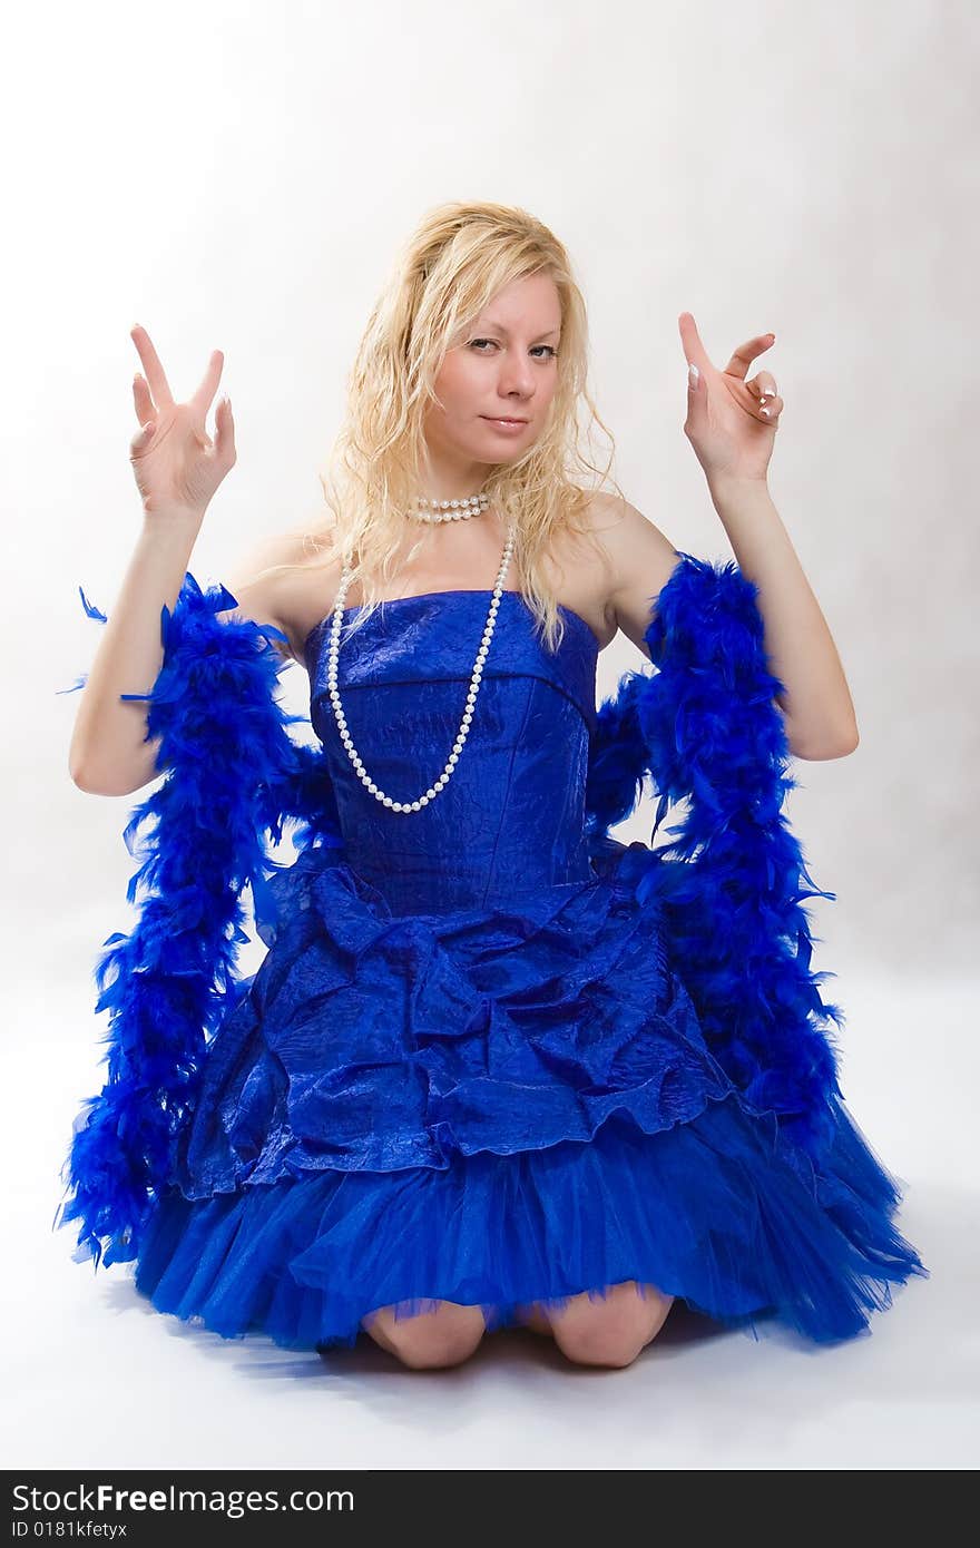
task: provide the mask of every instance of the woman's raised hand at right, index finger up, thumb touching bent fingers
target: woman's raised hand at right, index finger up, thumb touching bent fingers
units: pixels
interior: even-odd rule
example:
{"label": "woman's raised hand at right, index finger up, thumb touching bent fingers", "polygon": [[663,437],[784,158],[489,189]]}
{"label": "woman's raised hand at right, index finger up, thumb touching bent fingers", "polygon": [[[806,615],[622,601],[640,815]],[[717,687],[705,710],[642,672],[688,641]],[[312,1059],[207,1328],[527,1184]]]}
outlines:
{"label": "woman's raised hand at right, index finger up, thumb touching bent fingers", "polygon": [[[678,324],[689,367],[684,435],[697,460],[709,480],[765,480],[783,401],[769,372],[749,381],[746,373],[756,356],[773,348],[776,334],[746,339],[720,372],[708,358],[692,314],[683,311]],[[690,365],[697,365],[697,376]]]}

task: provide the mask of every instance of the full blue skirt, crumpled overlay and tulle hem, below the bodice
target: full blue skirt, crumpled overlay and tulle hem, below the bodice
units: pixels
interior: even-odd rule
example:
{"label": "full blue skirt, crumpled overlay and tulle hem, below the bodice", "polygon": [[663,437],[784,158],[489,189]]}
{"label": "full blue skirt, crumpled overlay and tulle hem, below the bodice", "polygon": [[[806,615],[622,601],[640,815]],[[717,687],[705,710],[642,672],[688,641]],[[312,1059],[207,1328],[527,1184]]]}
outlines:
{"label": "full blue skirt, crumpled overlay and tulle hem, below the bodice", "polygon": [[297,1348],[353,1345],[379,1307],[480,1303],[494,1328],[624,1280],[752,1331],[859,1333],[926,1272],[896,1180],[838,1099],[821,1170],[791,1164],[625,870],[427,915],[336,848],[277,873],[138,1288]]}

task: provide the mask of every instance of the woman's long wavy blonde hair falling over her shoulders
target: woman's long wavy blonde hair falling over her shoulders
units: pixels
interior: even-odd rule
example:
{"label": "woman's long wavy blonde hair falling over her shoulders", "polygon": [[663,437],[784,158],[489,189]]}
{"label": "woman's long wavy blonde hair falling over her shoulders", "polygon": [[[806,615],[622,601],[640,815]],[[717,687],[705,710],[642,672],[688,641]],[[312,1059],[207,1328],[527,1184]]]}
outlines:
{"label": "woman's long wavy blonde hair falling over her shoulders", "polygon": [[[382,601],[378,591],[398,573],[404,511],[424,478],[424,418],[430,404],[441,407],[435,381],[446,351],[466,337],[497,291],[539,272],[551,276],[560,299],[556,393],[534,444],[516,461],[488,464],[483,489],[505,528],[514,526],[516,588],[548,649],[560,641],[565,625],[542,560],[556,557],[559,536],[596,543],[587,506],[605,480],[621,494],[608,472],[615,440],[588,392],[585,302],[565,248],[526,211],[494,203],[452,201],[423,217],[398,251],[361,337],[344,423],[320,472],[328,512],[302,531],[299,560],[303,568],[325,568],[341,559],[351,568],[361,594],[351,630],[367,621]],[[582,450],[593,424],[608,438],[602,469]],[[418,526],[404,563],[432,540],[433,525]]]}

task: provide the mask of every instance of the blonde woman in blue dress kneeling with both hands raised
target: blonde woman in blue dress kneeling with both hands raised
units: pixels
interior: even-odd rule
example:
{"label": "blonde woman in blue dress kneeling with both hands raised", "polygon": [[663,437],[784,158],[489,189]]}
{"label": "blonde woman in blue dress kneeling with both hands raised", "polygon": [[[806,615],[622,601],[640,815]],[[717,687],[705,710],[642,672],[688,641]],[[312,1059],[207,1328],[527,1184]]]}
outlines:
{"label": "blonde woman in blue dress kneeling with both hands raised", "polygon": [[[197,673],[215,672],[215,649],[248,622],[310,672],[333,814],[327,842],[257,889],[268,955],[245,994],[226,991],[200,1060],[183,1060],[200,1062],[194,1102],[161,1141],[166,1187],[128,1252],[159,1310],[293,1347],[364,1330],[410,1367],[458,1364],[488,1327],[523,1324],[571,1361],[619,1367],[678,1296],[725,1324],[774,1317],[831,1341],[865,1330],[890,1283],[926,1272],[810,1020],[838,1012],[807,972],[805,923],[793,915],[793,983],[779,932],[766,935],[799,851],[796,867],[780,861],[774,803],[766,816],[762,794],[740,791],[780,751],[842,757],[858,741],[765,485],[782,399],[748,370],[771,336],[725,372],[689,314],[681,337],[686,433],[746,576],[725,587],[711,573],[695,627],[683,599],[698,594],[697,562],[678,563],[618,491],[574,481],[596,472],[576,438],[579,406],[595,407],[564,248],[522,211],[449,204],[421,223],[372,313],[331,520],[252,556],[223,593],[234,605],[200,615],[173,676],[181,650],[169,636],[161,659],[155,621],[161,607],[164,624],[195,616],[181,582],[234,466],[234,426],[224,398],[214,443],[204,430],[218,351],[176,404],[133,330],[144,525],[79,707],[73,777],[99,794],[153,780],[167,703],[183,717],[175,759],[212,717],[243,729],[237,680],[215,673],[203,692]],[[759,598],[765,653],[745,642],[757,615],[729,607],[735,580]],[[661,672],[633,680],[610,737],[595,672],[618,630]],[[638,743],[663,754],[661,807],[683,794],[684,738],[697,822],[683,858],[701,850],[694,875],[714,878],[700,901],[689,865],[596,837],[588,800],[599,827],[629,810],[604,779]],[[184,808],[217,793],[234,813],[249,779],[265,788],[245,743],[229,745],[231,791],[214,776],[201,794],[204,741],[183,774],[173,765]],[[212,859],[201,851],[204,876]],[[136,975],[119,977],[132,1011]],[[149,1059],[159,1026],[147,1020]],[[146,1094],[146,1079],[130,1084]],[[110,1127],[116,1142],[122,1125]],[[76,1133],[76,1181],[98,1176],[87,1133],[102,1142],[91,1124]],[[76,1201],[63,1218],[82,1212]]]}

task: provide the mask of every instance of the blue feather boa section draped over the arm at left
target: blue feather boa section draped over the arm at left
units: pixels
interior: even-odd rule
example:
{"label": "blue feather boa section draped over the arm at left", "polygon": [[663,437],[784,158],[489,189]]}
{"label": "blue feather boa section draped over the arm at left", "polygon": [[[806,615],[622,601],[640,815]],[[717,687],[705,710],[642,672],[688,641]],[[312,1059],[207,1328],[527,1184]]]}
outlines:
{"label": "blue feather boa section draped over the arm at left", "polygon": [[[84,591],[82,604],[107,621]],[[96,1012],[110,1012],[108,1079],[79,1113],[62,1169],[73,1197],[57,1223],[81,1221],[74,1255],[96,1266],[138,1255],[170,1176],[207,1037],[240,983],[243,889],[266,912],[268,872],[282,868],[268,841],[279,842],[293,817],[296,848],[341,842],[317,749],[288,732],[305,717],[288,715],[274,695],[282,661],[272,638],[282,635],[215,616],[235,605],[224,587],[201,591],[187,574],[173,613],[161,611],[164,658],[152,692],[121,695],[147,701],[146,740],[159,737],[156,769],[167,777],[124,831],[139,858],[127,893],[130,902],[142,893],[139,920],[132,935],[102,943],[94,978]]]}

